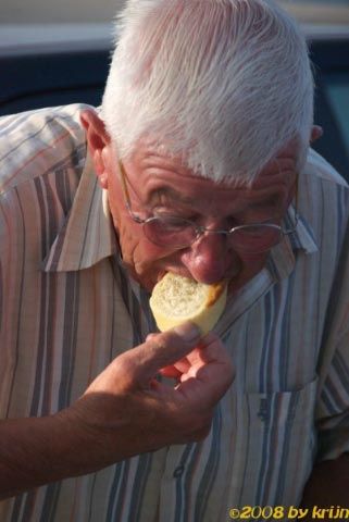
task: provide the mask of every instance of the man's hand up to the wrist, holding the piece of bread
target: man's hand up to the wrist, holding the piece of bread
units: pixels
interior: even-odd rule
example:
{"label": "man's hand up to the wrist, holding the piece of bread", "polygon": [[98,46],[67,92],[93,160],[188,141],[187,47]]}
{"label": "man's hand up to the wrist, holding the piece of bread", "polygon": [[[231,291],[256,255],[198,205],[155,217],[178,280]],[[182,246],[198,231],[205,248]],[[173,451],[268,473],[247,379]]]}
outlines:
{"label": "man's hand up to the wrist, holding the piece of bread", "polygon": [[[159,373],[175,382],[160,382]],[[117,357],[62,414],[96,442],[96,464],[101,459],[107,465],[205,436],[232,381],[219,338],[209,334],[200,340],[198,328],[186,323]]]}

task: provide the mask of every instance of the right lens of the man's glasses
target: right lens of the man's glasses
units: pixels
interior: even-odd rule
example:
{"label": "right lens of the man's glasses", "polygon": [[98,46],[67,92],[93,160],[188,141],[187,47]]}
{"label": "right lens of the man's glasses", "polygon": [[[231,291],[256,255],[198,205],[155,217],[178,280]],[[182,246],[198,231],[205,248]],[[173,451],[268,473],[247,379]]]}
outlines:
{"label": "right lens of the man's glasses", "polygon": [[247,253],[265,252],[282,239],[277,225],[248,225],[235,229],[230,235],[233,248]]}

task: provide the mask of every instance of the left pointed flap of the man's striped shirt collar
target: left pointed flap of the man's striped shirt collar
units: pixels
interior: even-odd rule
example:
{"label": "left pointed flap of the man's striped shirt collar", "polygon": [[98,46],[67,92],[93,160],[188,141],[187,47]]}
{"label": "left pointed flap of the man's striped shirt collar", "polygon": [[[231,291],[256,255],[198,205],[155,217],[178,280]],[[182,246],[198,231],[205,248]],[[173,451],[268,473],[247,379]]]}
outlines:
{"label": "left pointed flap of the man's striped shirt collar", "polygon": [[115,252],[117,243],[107,190],[99,186],[87,154],[71,212],[41,268],[45,272],[88,269]]}

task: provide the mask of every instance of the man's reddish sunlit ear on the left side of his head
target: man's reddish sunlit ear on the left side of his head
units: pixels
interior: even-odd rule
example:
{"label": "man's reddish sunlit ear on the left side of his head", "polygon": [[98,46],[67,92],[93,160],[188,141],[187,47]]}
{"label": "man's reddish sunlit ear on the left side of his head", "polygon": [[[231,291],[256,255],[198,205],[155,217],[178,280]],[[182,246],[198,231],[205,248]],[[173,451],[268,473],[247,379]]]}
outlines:
{"label": "man's reddish sunlit ear on the left side of his head", "polygon": [[80,122],[86,130],[88,149],[94,159],[99,183],[102,188],[108,188],[105,154],[108,154],[111,142],[110,136],[102,120],[98,116],[97,112],[91,109],[85,109],[82,112]]}

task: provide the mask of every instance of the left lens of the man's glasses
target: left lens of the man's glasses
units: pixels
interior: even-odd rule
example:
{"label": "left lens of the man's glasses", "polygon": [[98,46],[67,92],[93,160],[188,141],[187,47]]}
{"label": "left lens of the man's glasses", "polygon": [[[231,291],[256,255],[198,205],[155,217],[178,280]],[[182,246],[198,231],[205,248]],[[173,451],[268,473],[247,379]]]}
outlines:
{"label": "left lens of the man's glasses", "polygon": [[187,247],[195,241],[192,223],[179,217],[153,217],[144,224],[148,239],[159,246]]}

